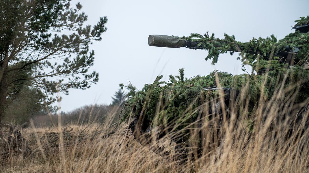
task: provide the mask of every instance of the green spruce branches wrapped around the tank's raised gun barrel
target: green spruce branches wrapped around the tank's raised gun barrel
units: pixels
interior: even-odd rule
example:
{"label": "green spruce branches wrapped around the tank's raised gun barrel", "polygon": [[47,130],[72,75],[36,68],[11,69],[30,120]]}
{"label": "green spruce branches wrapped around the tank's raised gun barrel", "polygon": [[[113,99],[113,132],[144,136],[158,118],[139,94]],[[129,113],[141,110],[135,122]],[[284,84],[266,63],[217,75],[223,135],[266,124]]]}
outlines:
{"label": "green spruce branches wrapped around the tank's raised gun barrel", "polygon": [[[307,18],[301,18],[295,22],[305,23],[304,21],[306,20],[308,20],[308,16]],[[241,61],[243,61],[243,64],[252,66],[252,63],[257,59],[270,60],[272,56],[276,55],[279,51],[285,51],[286,47],[291,47],[292,49],[295,49],[295,47],[299,48],[299,51],[295,54],[296,59],[299,60],[297,65],[302,66],[309,60],[308,33],[299,33],[299,31],[297,31],[287,35],[284,39],[279,41],[272,34],[267,38],[252,38],[246,43],[236,41],[234,35],[224,34],[224,36],[224,39],[219,39],[214,37],[214,33],[209,35],[209,33],[206,32],[204,35],[191,34],[188,37],[183,36],[182,39],[199,42],[197,47],[208,50],[208,56],[206,56],[205,60],[212,60],[211,64],[217,63],[218,57],[222,53],[230,51],[232,55],[233,52],[238,51],[239,56],[242,57]]]}

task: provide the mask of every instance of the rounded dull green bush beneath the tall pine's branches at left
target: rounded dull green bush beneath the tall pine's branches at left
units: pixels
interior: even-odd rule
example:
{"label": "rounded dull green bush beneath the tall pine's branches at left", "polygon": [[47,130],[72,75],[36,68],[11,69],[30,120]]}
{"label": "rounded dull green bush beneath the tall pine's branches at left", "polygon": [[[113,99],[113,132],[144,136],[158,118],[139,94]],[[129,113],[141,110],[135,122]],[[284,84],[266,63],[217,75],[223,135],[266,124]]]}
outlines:
{"label": "rounded dull green bush beneath the tall pine's branches at left", "polygon": [[[15,66],[22,65],[24,63],[15,64]],[[34,73],[31,67],[20,69],[16,73],[9,73],[7,80],[30,78]],[[34,115],[46,114],[46,109],[49,109],[49,112],[55,112],[56,108],[49,104],[48,97],[40,89],[32,87],[28,80],[17,80],[7,87],[6,111],[3,114],[3,120],[21,124]]]}

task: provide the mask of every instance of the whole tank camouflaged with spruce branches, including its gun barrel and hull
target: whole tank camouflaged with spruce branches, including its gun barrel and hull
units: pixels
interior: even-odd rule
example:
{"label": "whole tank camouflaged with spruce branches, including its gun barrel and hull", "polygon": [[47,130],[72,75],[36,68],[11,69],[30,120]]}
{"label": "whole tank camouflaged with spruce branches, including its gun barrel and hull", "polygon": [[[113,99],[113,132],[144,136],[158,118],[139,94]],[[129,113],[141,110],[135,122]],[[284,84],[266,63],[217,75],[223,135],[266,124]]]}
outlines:
{"label": "whole tank camouflaged with spruce branches, including its gun barrel and hull", "polygon": [[[253,71],[240,75],[214,71],[207,76],[185,79],[184,69],[180,68],[179,76],[170,75],[168,82],[160,81],[163,76],[158,76],[153,84],[144,85],[142,91],[136,91],[132,84],[122,84],[131,93],[122,109],[122,121],[131,118],[129,129],[142,145],[172,134],[170,137],[176,145],[184,149],[192,142],[191,129],[184,130],[189,125],[207,124],[207,138],[203,136],[205,131],[198,128],[193,134],[197,136],[198,149],[205,141],[210,142],[208,146],[220,146],[224,126],[231,130],[231,126],[243,126],[243,122],[252,120],[249,124],[253,129],[253,124],[264,124],[268,116],[273,118],[267,125],[269,131],[284,127],[284,133],[290,135],[307,129],[309,72],[304,69],[309,69],[309,16],[295,22],[292,28],[295,32],[281,40],[271,35],[243,43],[235,41],[234,35],[225,34],[224,39],[218,39],[208,32],[188,37],[149,35],[150,46],[208,50],[206,60],[211,59],[212,64],[222,53],[238,52],[239,59]],[[270,110],[276,112],[268,115]],[[183,153],[182,149],[178,151]]]}

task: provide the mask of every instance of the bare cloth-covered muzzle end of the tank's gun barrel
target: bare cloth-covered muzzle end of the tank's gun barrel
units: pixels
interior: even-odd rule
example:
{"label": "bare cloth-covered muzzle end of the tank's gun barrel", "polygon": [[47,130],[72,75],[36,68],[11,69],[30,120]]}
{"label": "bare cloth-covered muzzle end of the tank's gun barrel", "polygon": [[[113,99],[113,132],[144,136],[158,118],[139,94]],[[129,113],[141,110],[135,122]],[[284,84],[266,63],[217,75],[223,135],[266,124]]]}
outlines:
{"label": "bare cloth-covered muzzle end of the tank's gun barrel", "polygon": [[168,35],[149,35],[148,37],[149,46],[156,47],[187,47],[189,42],[185,39],[180,39],[177,37],[172,37]]}

